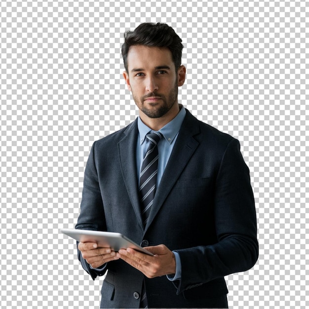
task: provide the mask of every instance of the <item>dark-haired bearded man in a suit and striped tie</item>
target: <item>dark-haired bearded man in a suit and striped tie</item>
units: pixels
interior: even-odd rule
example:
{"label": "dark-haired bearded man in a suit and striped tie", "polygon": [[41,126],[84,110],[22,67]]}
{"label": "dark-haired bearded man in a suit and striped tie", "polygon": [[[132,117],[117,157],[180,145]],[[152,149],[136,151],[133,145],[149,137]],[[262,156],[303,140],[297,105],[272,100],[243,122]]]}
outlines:
{"label": "dark-haired bearded man in a suit and striped tie", "polygon": [[120,232],[154,254],[78,244],[93,279],[108,271],[101,308],[227,308],[224,276],[258,258],[239,142],[178,103],[181,42],[165,24],[125,35],[123,76],[139,117],[95,142],[88,158],[76,229]]}

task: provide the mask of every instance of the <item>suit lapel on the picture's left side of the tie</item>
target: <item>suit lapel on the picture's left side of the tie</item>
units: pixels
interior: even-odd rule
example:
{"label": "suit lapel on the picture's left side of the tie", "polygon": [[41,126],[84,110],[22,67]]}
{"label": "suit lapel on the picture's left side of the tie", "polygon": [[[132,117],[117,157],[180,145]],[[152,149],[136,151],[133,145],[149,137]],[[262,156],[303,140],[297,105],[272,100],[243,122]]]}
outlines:
{"label": "suit lapel on the picture's left side of the tie", "polygon": [[[138,219],[138,223],[142,227],[142,229],[144,229],[140,208],[141,206],[136,167],[137,135],[137,120],[135,120],[132,125],[129,126],[128,129],[125,131],[125,137],[118,143],[118,154],[126,190],[128,192],[131,204]],[[131,218],[127,219],[130,220]]]}

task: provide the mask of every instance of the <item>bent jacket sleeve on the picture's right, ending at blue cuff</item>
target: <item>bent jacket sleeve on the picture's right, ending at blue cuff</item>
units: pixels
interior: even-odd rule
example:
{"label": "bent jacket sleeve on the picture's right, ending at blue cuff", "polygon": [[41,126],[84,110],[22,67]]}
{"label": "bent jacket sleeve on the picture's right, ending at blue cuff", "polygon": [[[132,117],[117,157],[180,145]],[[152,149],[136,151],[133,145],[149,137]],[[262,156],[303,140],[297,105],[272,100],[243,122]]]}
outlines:
{"label": "bent jacket sleeve on the picture's right, ending at blue cuff", "polygon": [[181,280],[175,283],[177,294],[248,270],[257,261],[257,223],[249,169],[235,139],[228,144],[216,177],[214,216],[217,243],[175,250],[182,265]]}

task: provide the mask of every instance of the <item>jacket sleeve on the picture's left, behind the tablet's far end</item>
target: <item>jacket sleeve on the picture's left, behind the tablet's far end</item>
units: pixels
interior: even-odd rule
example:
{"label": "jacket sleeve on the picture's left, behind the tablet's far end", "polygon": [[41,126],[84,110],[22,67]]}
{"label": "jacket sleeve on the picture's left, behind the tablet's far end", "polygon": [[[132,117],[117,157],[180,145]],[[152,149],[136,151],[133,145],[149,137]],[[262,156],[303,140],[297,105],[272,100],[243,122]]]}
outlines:
{"label": "jacket sleeve on the picture's left, behind the tablet's far end", "polygon": [[[106,231],[103,201],[94,160],[94,149],[95,143],[91,148],[85,168],[80,214],[75,228],[80,230]],[[95,279],[97,275],[102,276],[107,270],[107,267],[101,271],[90,268],[90,265],[82,258],[78,247],[77,257],[82,268],[91,275],[92,279]]]}

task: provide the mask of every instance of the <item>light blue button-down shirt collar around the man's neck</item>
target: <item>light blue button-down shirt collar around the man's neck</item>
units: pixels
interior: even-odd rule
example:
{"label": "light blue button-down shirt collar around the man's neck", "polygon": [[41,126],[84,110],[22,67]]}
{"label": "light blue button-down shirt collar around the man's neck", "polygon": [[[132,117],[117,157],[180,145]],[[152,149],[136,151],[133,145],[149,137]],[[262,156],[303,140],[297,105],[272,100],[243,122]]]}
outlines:
{"label": "light blue button-down shirt collar around the man's neck", "polygon": [[[178,134],[181,124],[183,123],[185,116],[186,116],[186,110],[182,105],[179,105],[180,107],[180,111],[177,114],[177,116],[172,119],[170,122],[168,122],[167,124],[165,124],[160,130],[159,132],[161,132],[165,138],[165,140],[167,141],[167,143],[171,144],[174,140],[174,138],[176,137],[176,135]],[[152,130],[150,127],[148,127],[142,120],[140,117],[138,117],[137,120],[137,126],[138,126],[138,132],[139,132],[139,138],[140,138],[140,143],[141,145],[143,144],[143,142],[145,141],[145,137],[149,132],[152,132],[154,130]]]}

